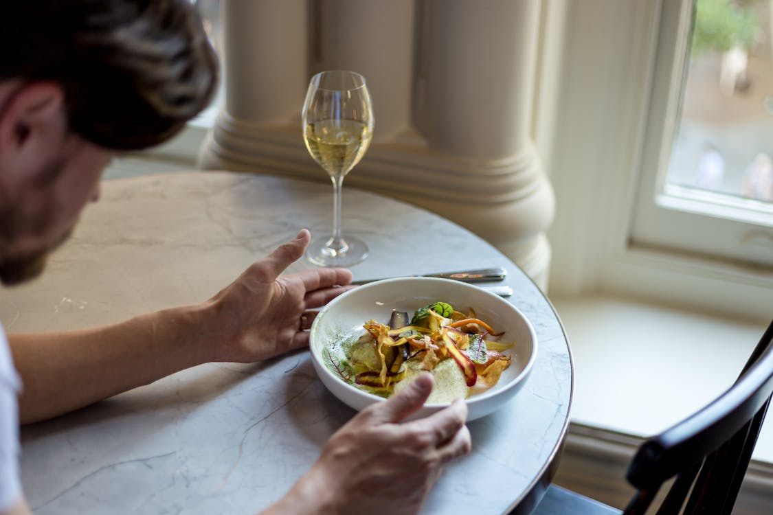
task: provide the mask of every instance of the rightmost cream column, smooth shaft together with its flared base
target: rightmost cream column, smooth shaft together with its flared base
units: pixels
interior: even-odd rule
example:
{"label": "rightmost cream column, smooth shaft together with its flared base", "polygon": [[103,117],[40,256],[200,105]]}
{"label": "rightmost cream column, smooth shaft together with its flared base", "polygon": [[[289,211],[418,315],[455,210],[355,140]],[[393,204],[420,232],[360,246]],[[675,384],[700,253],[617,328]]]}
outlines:
{"label": "rightmost cream column, smooth shaft together with its flared base", "polygon": [[430,147],[466,163],[443,187],[469,207],[433,208],[545,285],[554,200],[530,139],[539,11],[536,0],[432,0],[417,104]]}

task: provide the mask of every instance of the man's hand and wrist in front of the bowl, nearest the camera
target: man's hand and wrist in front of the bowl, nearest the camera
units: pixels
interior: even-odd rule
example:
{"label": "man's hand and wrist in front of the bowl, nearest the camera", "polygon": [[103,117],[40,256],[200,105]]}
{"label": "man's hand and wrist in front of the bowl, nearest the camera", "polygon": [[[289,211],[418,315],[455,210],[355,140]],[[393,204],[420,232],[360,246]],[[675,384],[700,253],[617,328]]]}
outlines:
{"label": "man's hand and wrist in front of the bowl, nearest the camera", "polygon": [[329,439],[290,492],[265,513],[417,513],[442,466],[470,451],[467,405],[403,422],[430,395],[422,374],[386,402],[371,405]]}

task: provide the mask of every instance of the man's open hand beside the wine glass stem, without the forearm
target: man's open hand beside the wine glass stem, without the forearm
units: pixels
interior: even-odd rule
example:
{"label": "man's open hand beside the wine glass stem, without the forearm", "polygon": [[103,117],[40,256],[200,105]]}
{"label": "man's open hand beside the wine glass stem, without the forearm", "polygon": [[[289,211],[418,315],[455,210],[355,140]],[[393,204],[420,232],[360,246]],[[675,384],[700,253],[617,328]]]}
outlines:
{"label": "man's open hand beside the wine glass stem, without the forearm", "polygon": [[216,346],[212,361],[250,362],[308,346],[315,308],[349,290],[347,269],[318,268],[281,276],[303,256],[311,236],[306,229],[291,242],[254,263],[206,306],[202,334]]}

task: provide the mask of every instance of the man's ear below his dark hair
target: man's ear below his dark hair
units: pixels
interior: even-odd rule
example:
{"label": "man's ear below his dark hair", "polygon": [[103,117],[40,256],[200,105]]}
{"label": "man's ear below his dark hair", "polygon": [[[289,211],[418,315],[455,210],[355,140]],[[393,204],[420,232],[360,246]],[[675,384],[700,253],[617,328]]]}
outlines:
{"label": "man's ear below his dark hair", "polygon": [[30,158],[58,147],[67,130],[63,102],[56,83],[20,86],[0,110],[0,155]]}

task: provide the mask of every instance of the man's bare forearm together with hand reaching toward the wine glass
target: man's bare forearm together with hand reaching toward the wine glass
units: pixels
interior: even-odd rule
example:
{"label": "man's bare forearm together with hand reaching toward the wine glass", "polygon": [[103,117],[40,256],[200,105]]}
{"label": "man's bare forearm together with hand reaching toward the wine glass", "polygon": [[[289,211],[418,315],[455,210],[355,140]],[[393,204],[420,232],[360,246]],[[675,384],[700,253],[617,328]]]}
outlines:
{"label": "man's bare forearm together with hand reaching toward the wine glass", "polygon": [[12,335],[14,363],[24,382],[22,423],[69,412],[208,361],[259,361],[305,347],[313,310],[348,290],[345,285],[352,280],[346,269],[279,277],[303,255],[309,238],[302,230],[204,303],[104,327]]}

